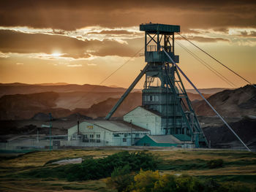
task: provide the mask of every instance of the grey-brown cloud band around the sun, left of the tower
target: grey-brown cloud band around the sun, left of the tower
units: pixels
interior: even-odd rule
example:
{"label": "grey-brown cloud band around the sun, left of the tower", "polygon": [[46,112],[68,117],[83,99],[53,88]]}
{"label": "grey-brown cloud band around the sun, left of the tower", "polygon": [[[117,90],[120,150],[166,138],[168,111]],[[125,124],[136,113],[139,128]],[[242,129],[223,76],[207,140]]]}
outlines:
{"label": "grey-brown cloud band around the sun, left of the tower", "polygon": [[[86,58],[92,55],[131,56],[134,46],[105,39],[80,41],[72,37],[48,34],[24,34],[11,30],[0,30],[0,52],[2,53],[53,53],[59,50],[66,57]],[[93,50],[94,52],[91,52]]]}

